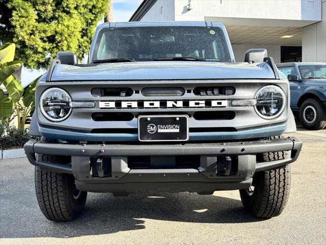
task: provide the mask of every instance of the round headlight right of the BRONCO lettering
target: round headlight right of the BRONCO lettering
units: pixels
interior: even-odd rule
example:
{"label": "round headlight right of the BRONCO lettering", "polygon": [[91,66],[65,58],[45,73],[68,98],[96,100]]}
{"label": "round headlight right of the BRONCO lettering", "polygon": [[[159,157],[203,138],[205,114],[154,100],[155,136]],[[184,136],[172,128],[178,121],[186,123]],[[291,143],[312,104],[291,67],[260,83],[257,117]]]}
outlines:
{"label": "round headlight right of the BRONCO lettering", "polygon": [[255,96],[256,113],[264,119],[273,119],[281,115],[285,108],[286,96],[283,90],[275,85],[268,85],[259,89]]}

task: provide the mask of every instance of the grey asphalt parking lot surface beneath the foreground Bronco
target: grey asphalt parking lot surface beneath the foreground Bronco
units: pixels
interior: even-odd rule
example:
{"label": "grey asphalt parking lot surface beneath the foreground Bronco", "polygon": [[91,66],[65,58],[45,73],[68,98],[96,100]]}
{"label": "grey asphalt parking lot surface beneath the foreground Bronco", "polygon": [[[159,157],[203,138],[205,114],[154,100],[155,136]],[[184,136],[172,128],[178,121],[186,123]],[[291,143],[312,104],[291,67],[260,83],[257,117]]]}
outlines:
{"label": "grey asphalt parking lot surface beneath the foreground Bronco", "polygon": [[41,213],[34,167],[26,158],[0,160],[0,244],[325,244],[326,130],[290,135],[303,140],[292,166],[290,198],[275,218],[244,211],[238,191],[89,193],[82,215],[54,223]]}

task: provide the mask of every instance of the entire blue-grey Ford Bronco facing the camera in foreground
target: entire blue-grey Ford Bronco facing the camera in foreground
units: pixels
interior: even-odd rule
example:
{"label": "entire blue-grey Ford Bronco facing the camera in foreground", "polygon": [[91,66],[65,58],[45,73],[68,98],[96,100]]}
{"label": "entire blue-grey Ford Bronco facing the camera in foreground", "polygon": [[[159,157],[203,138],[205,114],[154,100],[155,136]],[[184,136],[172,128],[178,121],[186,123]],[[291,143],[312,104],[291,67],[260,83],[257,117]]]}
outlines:
{"label": "entire blue-grey Ford Bronco facing the camera in foreground", "polygon": [[60,52],[36,88],[24,146],[46,218],[70,220],[87,192],[240,190],[244,208],[284,209],[302,142],[289,82],[266,50],[236,63],[215,22],[104,23],[88,64]]}

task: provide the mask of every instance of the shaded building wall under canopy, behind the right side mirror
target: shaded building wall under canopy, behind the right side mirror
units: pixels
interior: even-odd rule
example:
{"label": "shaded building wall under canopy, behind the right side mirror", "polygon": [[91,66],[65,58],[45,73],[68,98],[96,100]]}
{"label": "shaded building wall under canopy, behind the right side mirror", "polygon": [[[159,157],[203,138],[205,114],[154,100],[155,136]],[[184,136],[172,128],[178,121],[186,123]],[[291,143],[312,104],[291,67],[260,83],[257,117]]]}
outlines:
{"label": "shaded building wall under canopy, behind the right side mirror", "polygon": [[273,57],[276,63],[281,62],[281,46],[280,45],[247,45],[247,44],[233,44],[232,49],[236,62],[244,61],[244,53],[250,48],[266,48],[269,57]]}

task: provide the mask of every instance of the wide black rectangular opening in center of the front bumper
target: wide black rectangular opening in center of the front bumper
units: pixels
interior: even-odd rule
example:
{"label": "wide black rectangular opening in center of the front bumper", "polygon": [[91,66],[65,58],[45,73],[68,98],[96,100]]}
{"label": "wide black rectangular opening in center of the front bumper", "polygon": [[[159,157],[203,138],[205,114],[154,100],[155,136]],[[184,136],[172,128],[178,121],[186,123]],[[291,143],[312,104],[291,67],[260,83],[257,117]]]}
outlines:
{"label": "wide black rectangular opening in center of the front bumper", "polygon": [[129,156],[130,169],[198,168],[200,156]]}

